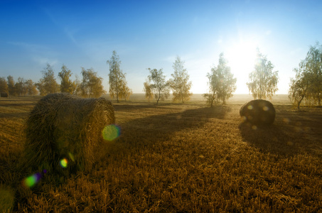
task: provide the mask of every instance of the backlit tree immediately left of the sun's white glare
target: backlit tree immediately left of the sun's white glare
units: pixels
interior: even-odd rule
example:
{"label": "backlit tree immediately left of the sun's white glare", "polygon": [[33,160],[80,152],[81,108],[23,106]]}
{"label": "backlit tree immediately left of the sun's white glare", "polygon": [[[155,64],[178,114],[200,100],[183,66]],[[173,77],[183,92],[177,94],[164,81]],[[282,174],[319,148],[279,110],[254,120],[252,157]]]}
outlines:
{"label": "backlit tree immediately left of the sun's white glare", "polygon": [[224,58],[224,54],[220,53],[218,66],[211,68],[211,71],[207,74],[209,92],[203,94],[203,97],[213,107],[213,102],[222,100],[222,104],[226,103],[226,100],[232,97],[232,92],[236,90],[236,81],[230,67],[227,65],[227,60]]}

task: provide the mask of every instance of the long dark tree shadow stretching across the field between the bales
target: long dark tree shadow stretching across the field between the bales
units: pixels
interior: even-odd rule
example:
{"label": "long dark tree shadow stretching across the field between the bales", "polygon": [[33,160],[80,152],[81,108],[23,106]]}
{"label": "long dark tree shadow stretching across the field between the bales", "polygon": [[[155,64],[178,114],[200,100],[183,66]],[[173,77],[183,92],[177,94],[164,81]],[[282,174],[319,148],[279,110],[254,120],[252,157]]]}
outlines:
{"label": "long dark tree shadow stretching across the field between the bales", "polygon": [[[135,143],[139,141],[146,141],[151,143],[158,140],[166,140],[167,137],[171,136],[171,133],[176,131],[183,131],[185,129],[198,129],[210,119],[224,119],[225,114],[231,111],[230,107],[217,106],[217,107],[202,107],[195,109],[181,108],[181,111],[175,113],[167,113],[171,111],[168,108],[156,107],[156,106],[128,106],[127,112],[132,109],[140,109],[144,111],[146,116],[132,119],[130,121],[124,121],[120,124],[122,129],[122,140],[132,141]],[[149,116],[149,109],[154,111]],[[125,110],[124,106],[115,106],[116,111]],[[158,111],[160,114],[158,114]],[[116,118],[117,119],[117,118]]]}

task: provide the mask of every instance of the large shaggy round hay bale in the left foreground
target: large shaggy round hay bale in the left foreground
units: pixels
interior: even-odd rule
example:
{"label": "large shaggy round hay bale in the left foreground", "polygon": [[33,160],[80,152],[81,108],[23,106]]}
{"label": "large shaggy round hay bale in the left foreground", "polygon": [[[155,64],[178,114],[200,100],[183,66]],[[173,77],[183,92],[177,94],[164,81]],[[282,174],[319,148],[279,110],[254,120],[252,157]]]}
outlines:
{"label": "large shaggy round hay bale in the left foreground", "polygon": [[102,130],[114,120],[107,99],[48,94],[26,121],[26,164],[41,170],[88,170],[103,140]]}

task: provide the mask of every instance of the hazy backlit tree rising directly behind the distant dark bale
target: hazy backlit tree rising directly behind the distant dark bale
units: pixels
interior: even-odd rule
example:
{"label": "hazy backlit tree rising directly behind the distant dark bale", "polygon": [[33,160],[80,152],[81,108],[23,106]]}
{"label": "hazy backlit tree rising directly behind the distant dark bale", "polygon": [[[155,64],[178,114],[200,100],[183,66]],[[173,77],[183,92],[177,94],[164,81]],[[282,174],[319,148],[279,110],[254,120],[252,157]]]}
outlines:
{"label": "hazy backlit tree rising directly behind the distant dark bale", "polygon": [[267,97],[272,99],[277,92],[279,72],[273,72],[273,68],[272,62],[267,60],[267,57],[262,55],[257,48],[254,70],[249,73],[249,82],[247,82],[249,92],[252,92],[254,99],[266,99]]}

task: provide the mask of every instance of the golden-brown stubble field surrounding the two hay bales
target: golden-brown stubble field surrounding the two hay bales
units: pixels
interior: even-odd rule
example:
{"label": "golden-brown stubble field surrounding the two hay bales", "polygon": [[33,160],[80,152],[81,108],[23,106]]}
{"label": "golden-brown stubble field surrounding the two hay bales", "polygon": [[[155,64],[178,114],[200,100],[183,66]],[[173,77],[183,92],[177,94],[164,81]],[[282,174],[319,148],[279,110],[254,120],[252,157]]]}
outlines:
{"label": "golden-brown stubble field surrounding the two hay bales", "polygon": [[259,128],[240,121],[247,101],[114,104],[122,134],[91,173],[28,189],[16,165],[35,100],[0,99],[0,190],[17,212],[321,212],[322,109],[273,99],[275,122]]}

